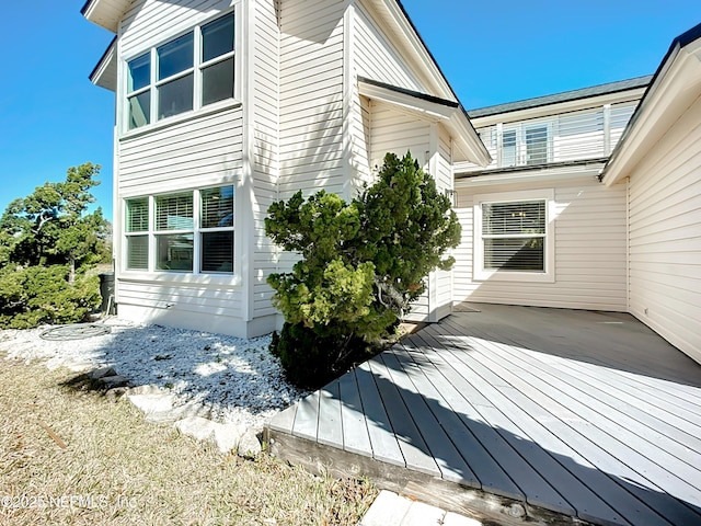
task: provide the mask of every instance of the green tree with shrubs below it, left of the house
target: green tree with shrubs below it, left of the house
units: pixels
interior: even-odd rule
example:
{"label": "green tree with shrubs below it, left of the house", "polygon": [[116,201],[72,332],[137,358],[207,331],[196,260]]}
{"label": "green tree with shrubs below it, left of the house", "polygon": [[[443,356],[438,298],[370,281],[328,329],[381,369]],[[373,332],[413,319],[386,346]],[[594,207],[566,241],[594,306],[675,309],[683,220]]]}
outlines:
{"label": "green tree with shrubs below it, left of the house", "polygon": [[99,282],[85,272],[108,253],[107,221],[91,188],[100,167],[70,168],[14,199],[0,218],[0,327],[81,321],[100,302]]}

